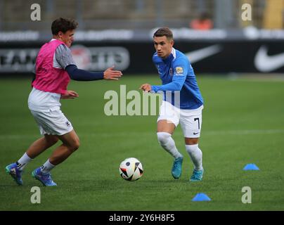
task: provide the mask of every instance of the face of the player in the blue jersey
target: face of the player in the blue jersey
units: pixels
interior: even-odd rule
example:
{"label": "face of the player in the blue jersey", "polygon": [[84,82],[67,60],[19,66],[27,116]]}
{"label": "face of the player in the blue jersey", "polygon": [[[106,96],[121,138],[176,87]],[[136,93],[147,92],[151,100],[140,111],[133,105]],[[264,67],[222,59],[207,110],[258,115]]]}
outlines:
{"label": "face of the player in the blue jersey", "polygon": [[154,37],[154,46],[157,51],[157,56],[167,58],[172,53],[174,40],[168,40],[166,36]]}

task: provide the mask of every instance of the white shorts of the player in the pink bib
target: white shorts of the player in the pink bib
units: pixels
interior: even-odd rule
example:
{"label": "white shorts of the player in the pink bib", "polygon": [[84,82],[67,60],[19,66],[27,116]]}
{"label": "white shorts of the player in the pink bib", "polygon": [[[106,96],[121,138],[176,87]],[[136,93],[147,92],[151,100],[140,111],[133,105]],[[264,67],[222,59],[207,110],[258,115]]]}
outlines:
{"label": "white shorts of the player in the pink bib", "polygon": [[52,134],[60,136],[69,133],[73,129],[71,122],[67,120],[60,108],[51,109],[49,112],[30,111],[39,126],[41,135]]}

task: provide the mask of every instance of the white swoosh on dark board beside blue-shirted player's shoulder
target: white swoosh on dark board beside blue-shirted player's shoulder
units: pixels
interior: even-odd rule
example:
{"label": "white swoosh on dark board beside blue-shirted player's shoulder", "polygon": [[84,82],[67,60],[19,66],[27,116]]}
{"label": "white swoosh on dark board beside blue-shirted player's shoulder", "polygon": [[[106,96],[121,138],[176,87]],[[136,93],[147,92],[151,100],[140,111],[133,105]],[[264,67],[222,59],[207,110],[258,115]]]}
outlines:
{"label": "white swoosh on dark board beside blue-shirted player's shoulder", "polygon": [[221,46],[219,44],[215,44],[209,47],[206,47],[204,49],[199,49],[195,51],[191,51],[186,53],[186,56],[191,61],[191,63],[196,63],[203,58],[207,58],[209,56],[212,56],[216,53],[219,53],[221,51]]}

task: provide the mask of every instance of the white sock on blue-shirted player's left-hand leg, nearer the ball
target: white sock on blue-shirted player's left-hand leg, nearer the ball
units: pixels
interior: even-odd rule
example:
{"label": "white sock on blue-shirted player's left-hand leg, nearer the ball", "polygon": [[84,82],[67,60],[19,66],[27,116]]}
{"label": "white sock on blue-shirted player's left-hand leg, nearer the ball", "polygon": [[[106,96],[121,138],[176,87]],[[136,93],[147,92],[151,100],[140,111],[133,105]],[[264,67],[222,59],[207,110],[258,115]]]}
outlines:
{"label": "white sock on blue-shirted player's left-hand leg, nearer the ball", "polygon": [[174,139],[172,139],[172,135],[167,132],[157,132],[157,141],[159,141],[160,145],[164,150],[167,150],[169,154],[174,156],[174,158],[183,157],[179,150],[176,148],[176,144],[174,143]]}

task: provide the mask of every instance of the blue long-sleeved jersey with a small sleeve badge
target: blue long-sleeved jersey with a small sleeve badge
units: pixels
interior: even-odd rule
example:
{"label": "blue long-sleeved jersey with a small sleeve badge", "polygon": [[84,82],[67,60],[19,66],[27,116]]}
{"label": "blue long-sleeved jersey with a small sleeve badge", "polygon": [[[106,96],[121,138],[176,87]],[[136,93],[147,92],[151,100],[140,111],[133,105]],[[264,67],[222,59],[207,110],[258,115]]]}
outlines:
{"label": "blue long-sleeved jersey with a small sleeve badge", "polygon": [[163,91],[164,101],[181,109],[193,110],[203,105],[191,63],[181,51],[173,48],[165,59],[155,52],[153,63],[162,79],[162,85],[153,85],[152,91]]}

